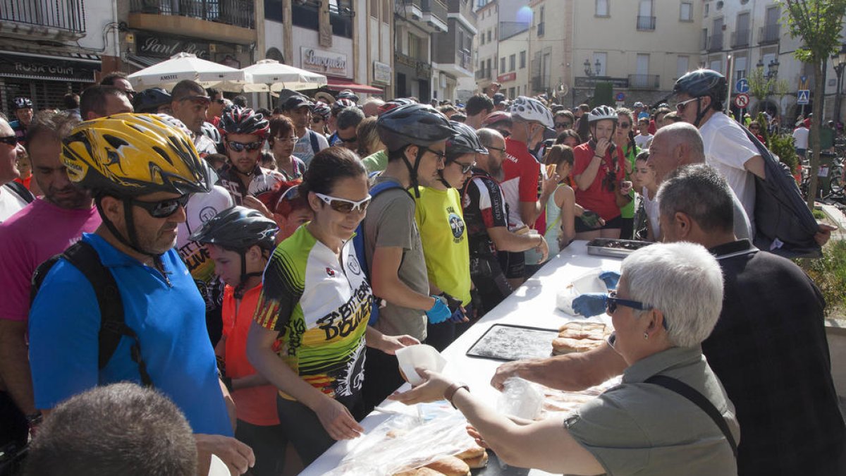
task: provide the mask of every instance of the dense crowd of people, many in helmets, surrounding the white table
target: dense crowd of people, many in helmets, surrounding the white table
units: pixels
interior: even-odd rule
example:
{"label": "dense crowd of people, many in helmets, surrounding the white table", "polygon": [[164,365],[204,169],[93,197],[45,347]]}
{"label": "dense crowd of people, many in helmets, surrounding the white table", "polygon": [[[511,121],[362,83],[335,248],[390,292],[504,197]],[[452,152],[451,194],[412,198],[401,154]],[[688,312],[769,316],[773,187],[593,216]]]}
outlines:
{"label": "dense crowd of people, many in helmets, surrounding the white table", "polygon": [[[846,472],[825,303],[752,245],[755,180],[772,168],[722,113],[726,88],[700,69],[674,108],[283,91],[267,110],[192,80],[136,92],[115,73],[64,111],[16,98],[16,120],[0,119],[0,444],[35,436],[29,474],[161,459],[167,473],[261,476],[359,437],[386,398],[446,398],[517,466]],[[831,233],[814,231],[817,246]],[[492,385],[623,385],[541,423],[433,372],[394,393],[398,349],[446,348],[594,238],[664,242],[627,258],[611,294],[580,300],[612,316],[612,339],[503,364]],[[667,379],[717,417],[648,385]],[[125,437],[127,420],[145,437]],[[173,446],[149,446],[157,434]],[[58,457],[70,449],[86,464]]]}

